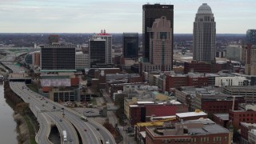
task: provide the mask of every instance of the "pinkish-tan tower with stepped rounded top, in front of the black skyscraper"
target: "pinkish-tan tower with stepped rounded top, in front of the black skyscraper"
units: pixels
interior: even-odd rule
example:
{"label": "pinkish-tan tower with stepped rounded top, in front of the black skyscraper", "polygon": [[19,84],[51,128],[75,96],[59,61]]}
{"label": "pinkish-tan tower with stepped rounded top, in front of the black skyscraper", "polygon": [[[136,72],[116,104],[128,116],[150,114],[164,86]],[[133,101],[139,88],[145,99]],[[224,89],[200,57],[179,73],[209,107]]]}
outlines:
{"label": "pinkish-tan tower with stepped rounded top, in front of the black skyscraper", "polygon": [[165,16],[155,19],[150,32],[150,62],[142,62],[142,71],[170,71],[173,58],[173,30]]}

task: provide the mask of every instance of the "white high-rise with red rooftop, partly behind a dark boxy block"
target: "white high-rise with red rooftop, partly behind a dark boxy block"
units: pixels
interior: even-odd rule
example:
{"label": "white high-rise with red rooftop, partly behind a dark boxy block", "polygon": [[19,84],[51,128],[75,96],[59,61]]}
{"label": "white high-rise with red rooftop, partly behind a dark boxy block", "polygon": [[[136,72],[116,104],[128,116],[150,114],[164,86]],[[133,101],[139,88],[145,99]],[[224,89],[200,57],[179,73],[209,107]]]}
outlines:
{"label": "white high-rise with red rooftop, partly behind a dark boxy block", "polygon": [[106,30],[101,30],[100,34],[94,34],[94,39],[102,38],[106,40],[106,64],[112,63],[112,35],[107,34]]}

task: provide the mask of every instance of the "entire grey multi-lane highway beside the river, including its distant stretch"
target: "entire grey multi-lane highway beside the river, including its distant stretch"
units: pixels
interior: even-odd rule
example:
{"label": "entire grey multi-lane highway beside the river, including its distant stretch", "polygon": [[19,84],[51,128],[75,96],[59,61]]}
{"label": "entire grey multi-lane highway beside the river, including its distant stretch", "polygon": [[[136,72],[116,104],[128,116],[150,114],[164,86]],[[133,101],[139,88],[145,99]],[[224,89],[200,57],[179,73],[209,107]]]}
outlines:
{"label": "entire grey multi-lane highway beside the river, including its distant stretch", "polygon": [[[15,56],[10,55],[9,57],[2,59],[11,61]],[[14,66],[13,62],[2,63],[13,70],[18,77],[22,77],[20,72],[25,71],[22,67]],[[79,114],[70,108],[66,108],[57,102],[53,102],[48,98],[43,98],[42,95],[29,90],[25,82],[10,82],[10,88],[14,93],[18,94],[24,102],[30,103],[30,110],[37,116],[40,124],[40,130],[36,135],[36,140],[39,144],[51,143],[48,136],[50,134],[50,127],[54,125],[58,127],[62,143],[65,144],[79,143],[78,134],[74,130],[74,127],[78,130],[83,144],[105,144],[106,142],[109,142],[110,144],[115,143],[114,137],[110,134],[110,131],[106,130],[106,128],[101,124],[94,122],[94,120],[90,118],[88,118],[88,122],[83,121],[81,119],[82,114]],[[53,106],[55,106],[55,109],[53,109]],[[62,116],[62,108],[64,108],[64,118]],[[62,130],[66,130],[67,142],[63,142]],[[70,139],[72,142],[70,142]]]}

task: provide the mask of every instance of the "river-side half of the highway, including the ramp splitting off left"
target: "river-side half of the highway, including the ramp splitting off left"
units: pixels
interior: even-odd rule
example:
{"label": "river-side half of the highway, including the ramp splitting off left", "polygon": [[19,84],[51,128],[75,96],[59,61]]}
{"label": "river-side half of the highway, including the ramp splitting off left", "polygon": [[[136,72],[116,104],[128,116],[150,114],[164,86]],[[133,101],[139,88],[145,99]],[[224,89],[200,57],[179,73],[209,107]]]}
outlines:
{"label": "river-side half of the highway, including the ramp splitting off left", "polygon": [[[57,110],[53,109],[52,105],[47,105],[46,102],[41,100],[39,97],[34,97],[34,92],[29,90],[23,82],[10,82],[10,88],[14,90],[25,102],[30,103],[30,110],[37,116],[40,124],[40,130],[38,132],[37,140],[38,143],[50,143],[48,136],[50,134],[50,125],[56,125],[62,136],[62,130],[67,132],[67,144],[78,144],[78,135],[74,130],[74,126],[62,118],[61,114],[57,114]],[[62,122],[60,122],[62,119]],[[46,127],[46,128],[45,128]],[[71,139],[71,141],[70,141]]]}

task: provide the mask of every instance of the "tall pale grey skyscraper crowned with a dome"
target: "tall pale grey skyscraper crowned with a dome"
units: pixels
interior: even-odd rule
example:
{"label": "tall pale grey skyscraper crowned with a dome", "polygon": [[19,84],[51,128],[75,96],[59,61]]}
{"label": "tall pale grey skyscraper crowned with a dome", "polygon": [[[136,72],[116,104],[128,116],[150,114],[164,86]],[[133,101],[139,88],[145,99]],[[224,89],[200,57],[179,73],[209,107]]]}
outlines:
{"label": "tall pale grey skyscraper crowned with a dome", "polygon": [[212,62],[216,51],[216,23],[210,6],[203,3],[198,8],[193,30],[193,59]]}

